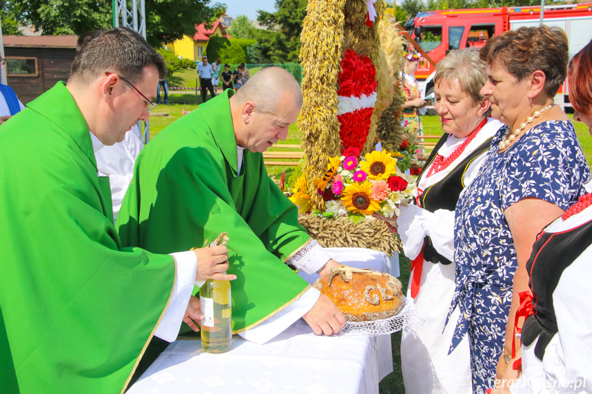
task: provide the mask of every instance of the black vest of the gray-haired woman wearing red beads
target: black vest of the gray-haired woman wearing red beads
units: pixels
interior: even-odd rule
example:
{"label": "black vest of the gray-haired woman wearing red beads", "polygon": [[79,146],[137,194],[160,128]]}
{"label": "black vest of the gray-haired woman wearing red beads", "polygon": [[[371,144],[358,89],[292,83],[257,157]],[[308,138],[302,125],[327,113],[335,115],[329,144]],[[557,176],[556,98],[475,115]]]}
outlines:
{"label": "black vest of the gray-haired woman wearing red beads", "polygon": [[[436,158],[438,154],[438,149],[446,142],[448,136],[450,134],[445,133],[442,138],[434,147],[434,150],[431,151],[429,158],[423,170],[419,174],[418,179],[424,175],[425,170],[431,164],[432,161]],[[484,141],[477,149],[475,149],[469,156],[464,158],[462,162],[460,162],[452,171],[450,171],[440,182],[429,186],[426,190],[423,191],[422,195],[419,197],[419,204],[425,210],[429,210],[429,212],[435,212],[439,209],[445,210],[454,210],[456,208],[456,203],[458,202],[458,197],[460,196],[460,192],[464,189],[464,184],[462,183],[462,175],[464,175],[466,169],[469,168],[469,165],[477,156],[481,153],[484,153],[489,149],[489,145],[491,143],[491,138],[488,138]],[[427,174],[426,174],[427,175]],[[450,264],[451,261],[439,254],[434,245],[431,243],[431,239],[429,236],[425,237],[425,246],[423,247],[423,258],[426,261],[433,262],[434,264],[438,264],[438,262],[442,264]]]}

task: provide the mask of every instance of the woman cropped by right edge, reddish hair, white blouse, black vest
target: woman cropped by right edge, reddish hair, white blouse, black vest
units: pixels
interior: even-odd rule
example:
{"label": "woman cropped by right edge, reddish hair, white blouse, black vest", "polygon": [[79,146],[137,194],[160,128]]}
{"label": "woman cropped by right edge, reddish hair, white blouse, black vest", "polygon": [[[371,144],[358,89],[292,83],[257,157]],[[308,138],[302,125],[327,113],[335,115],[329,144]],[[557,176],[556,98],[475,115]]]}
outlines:
{"label": "woman cropped by right edge, reddish hair, white blouse, black vest", "polygon": [[[568,78],[573,119],[592,134],[592,41],[569,62]],[[592,393],[591,206],[592,194],[580,197],[532,246],[512,361],[493,393]]]}

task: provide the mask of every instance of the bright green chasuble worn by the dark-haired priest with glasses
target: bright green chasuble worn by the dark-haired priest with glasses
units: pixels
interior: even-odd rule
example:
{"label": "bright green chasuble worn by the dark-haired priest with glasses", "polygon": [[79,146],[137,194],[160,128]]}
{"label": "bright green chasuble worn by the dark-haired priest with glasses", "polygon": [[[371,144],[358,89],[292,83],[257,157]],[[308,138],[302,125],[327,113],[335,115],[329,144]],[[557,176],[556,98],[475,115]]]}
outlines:
{"label": "bright green chasuble worn by the dark-haired priest with glasses", "polygon": [[86,121],[60,82],[0,126],[1,393],[123,392],[176,267],[121,249],[112,217]]}

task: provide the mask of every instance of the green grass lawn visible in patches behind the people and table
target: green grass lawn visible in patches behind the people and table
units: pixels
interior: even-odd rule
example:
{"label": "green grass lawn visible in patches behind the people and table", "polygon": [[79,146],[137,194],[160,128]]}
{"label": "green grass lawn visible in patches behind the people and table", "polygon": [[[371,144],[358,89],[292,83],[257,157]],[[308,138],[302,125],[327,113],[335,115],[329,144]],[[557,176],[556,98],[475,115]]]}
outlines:
{"label": "green grass lawn visible in patches behind the people and table", "polygon": [[[195,72],[193,71],[193,76]],[[172,123],[175,119],[181,116],[182,109],[190,111],[197,108],[198,104],[201,103],[201,97],[196,99],[195,93],[172,93],[169,90],[169,105],[159,106],[154,110],[154,114],[150,117],[150,134],[154,136],[164,127]],[[162,114],[166,114],[163,116]],[[573,120],[573,115],[569,115]],[[440,121],[438,116],[422,116],[423,129],[425,134],[442,135],[440,129]],[[586,156],[589,164],[592,163],[592,138],[589,134],[588,127],[583,123],[575,123],[576,134],[582,145],[584,155]],[[285,144],[298,144],[302,133],[298,131],[296,123],[289,128],[287,140]],[[272,148],[274,150],[277,148]],[[276,178],[285,172],[286,180],[289,180],[289,176],[295,171],[294,167],[269,167],[268,173],[270,176]],[[401,256],[401,283],[403,288],[407,289],[407,283],[409,282],[410,275],[410,260]],[[380,394],[403,394],[405,390],[403,388],[403,376],[401,375],[401,354],[399,350],[399,343],[401,343],[401,333],[396,332],[391,335],[392,338],[392,367],[393,373],[384,378],[379,384]]]}

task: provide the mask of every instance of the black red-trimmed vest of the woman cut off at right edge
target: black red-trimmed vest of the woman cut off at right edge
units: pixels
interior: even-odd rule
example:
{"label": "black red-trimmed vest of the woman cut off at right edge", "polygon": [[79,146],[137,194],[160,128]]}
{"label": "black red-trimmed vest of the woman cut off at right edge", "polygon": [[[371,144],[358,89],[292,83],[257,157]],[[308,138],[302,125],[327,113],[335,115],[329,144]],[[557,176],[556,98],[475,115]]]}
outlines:
{"label": "black red-trimmed vest of the woman cut off at right edge", "polygon": [[543,360],[545,349],[558,330],[553,292],[563,271],[591,242],[592,220],[566,232],[543,232],[532,246],[526,269],[530,276],[534,315],[526,319],[521,339],[524,345],[530,346],[538,336],[534,354],[539,360]]}

